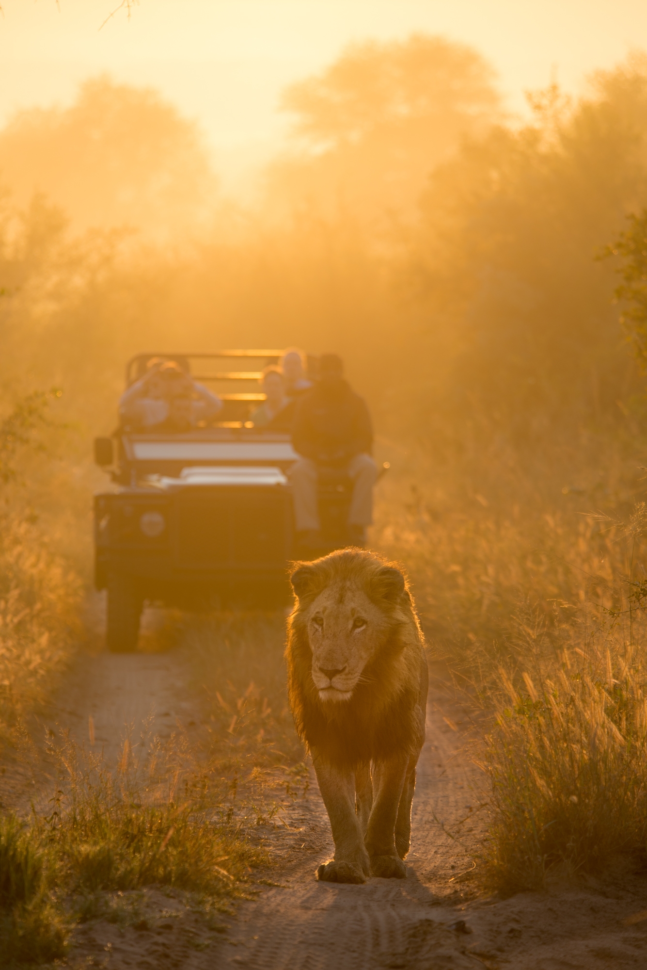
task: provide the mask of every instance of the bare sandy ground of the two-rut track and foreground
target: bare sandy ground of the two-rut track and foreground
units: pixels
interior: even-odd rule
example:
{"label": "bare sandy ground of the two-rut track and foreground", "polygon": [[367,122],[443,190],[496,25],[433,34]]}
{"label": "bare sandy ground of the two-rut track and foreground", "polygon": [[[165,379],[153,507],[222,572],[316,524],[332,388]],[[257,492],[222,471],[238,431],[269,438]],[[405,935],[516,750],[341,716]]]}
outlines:
{"label": "bare sandy ground of the two-rut track and foreground", "polygon": [[[87,740],[92,717],[95,743],[116,758],[125,725],[136,736],[151,716],[162,736],[176,724],[200,731],[200,705],[188,681],[188,661],[179,650],[82,656],[41,727],[69,728]],[[466,754],[471,730],[469,718],[451,700],[442,670],[432,670],[406,880],[373,879],[358,887],[315,881],[315,868],[330,857],[332,843],[313,776],[309,792],[279,824],[262,832],[276,864],[260,878],[274,885],[239,903],[233,917],[209,923],[181,895],[157,889],[116,898],[112,921],[78,928],[69,965],[109,970],[647,967],[647,874],[635,871],[630,861],[619,861],[603,880],[586,884],[556,884],[508,899],[478,894],[470,876],[470,853],[480,836],[474,768]],[[42,766],[31,776],[15,760],[5,766],[0,784],[5,805],[24,804],[36,788],[46,789]],[[627,924],[636,914],[644,919]]]}

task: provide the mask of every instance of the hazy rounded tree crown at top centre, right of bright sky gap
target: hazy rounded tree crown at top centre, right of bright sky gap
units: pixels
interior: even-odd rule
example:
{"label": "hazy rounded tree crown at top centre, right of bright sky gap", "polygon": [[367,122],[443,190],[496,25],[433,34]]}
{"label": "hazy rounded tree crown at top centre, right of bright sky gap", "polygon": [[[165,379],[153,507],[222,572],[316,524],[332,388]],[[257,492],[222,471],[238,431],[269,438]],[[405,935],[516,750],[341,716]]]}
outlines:
{"label": "hazy rounded tree crown at top centre, right of bright sky gap", "polygon": [[494,72],[473,49],[415,34],[354,45],[289,87],[293,150],[270,175],[283,205],[347,210],[364,222],[412,215],[429,172],[499,114]]}

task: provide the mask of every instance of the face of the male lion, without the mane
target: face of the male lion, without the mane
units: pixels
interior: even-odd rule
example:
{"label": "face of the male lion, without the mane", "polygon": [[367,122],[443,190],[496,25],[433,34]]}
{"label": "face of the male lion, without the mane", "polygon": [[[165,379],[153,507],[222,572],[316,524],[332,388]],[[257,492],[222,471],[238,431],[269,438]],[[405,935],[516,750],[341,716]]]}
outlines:
{"label": "face of the male lion, without the mane", "polygon": [[384,638],[384,611],[363,590],[334,584],[313,600],[304,620],[320,698],[349,700]]}

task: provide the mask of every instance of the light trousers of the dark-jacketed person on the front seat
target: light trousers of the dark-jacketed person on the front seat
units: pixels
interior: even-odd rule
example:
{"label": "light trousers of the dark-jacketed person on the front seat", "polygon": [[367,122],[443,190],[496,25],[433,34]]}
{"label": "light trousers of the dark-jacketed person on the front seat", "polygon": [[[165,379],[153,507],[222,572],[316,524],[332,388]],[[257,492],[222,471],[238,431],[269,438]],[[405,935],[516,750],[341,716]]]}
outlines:
{"label": "light trousers of the dark-jacketed person on the front seat", "polygon": [[[373,522],[373,486],[378,478],[378,467],[370,455],[362,454],[351,459],[346,471],[353,479],[348,525],[370,526]],[[299,458],[289,475],[293,487],[296,531],[319,530],[317,465],[309,458]]]}

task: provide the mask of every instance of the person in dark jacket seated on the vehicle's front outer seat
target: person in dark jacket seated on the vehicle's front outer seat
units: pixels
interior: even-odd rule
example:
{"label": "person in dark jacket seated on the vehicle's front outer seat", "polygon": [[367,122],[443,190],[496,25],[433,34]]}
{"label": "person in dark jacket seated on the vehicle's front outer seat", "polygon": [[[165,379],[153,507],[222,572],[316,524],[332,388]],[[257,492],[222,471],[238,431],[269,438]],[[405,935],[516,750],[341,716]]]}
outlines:
{"label": "person in dark jacket seated on the vehicle's front outer seat", "polygon": [[319,381],[297,403],[293,446],[301,456],[290,471],[298,544],[310,548],[323,544],[317,484],[319,469],[327,467],[344,469],[353,479],[348,540],[363,545],[366,526],[373,521],[373,486],[378,477],[371,458],[373,430],[368,408],[344,380],[344,365],[337,354],[323,354]]}

